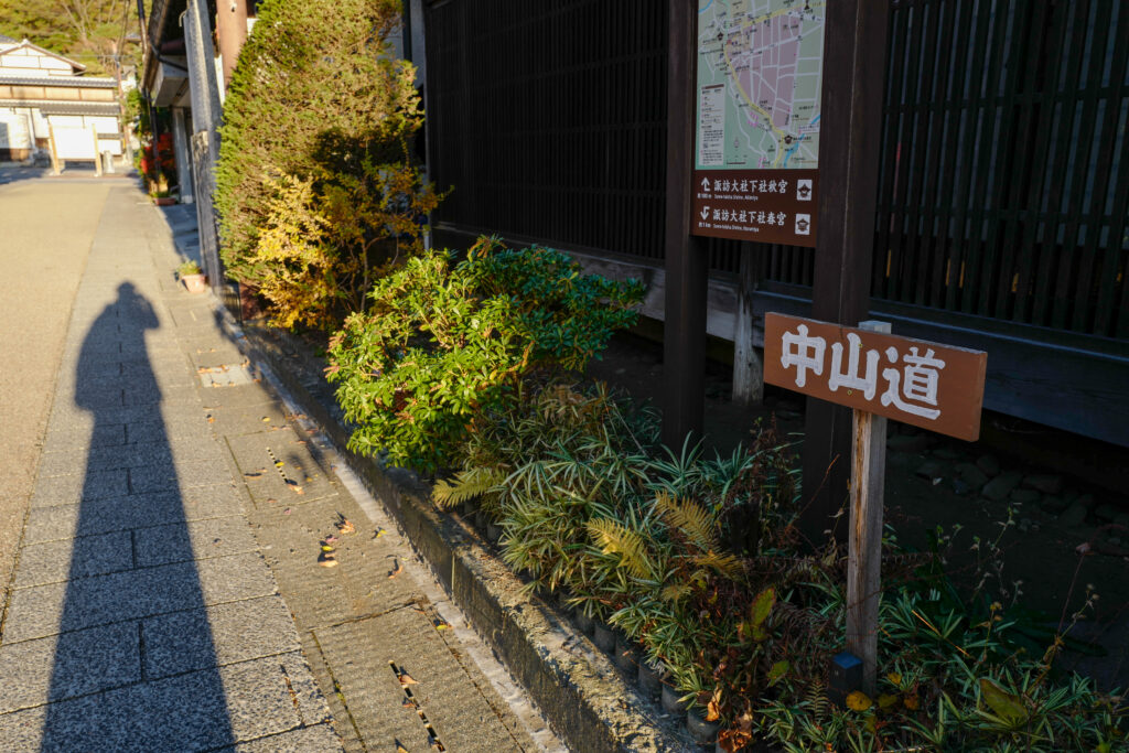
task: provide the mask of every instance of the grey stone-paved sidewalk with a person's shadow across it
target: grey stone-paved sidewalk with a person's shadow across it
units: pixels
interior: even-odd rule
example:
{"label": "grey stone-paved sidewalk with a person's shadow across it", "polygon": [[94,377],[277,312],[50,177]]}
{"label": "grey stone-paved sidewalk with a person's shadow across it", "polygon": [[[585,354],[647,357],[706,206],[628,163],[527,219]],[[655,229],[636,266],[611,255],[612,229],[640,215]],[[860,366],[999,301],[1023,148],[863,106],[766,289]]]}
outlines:
{"label": "grey stone-paved sidewalk with a person's shadow across it", "polygon": [[177,261],[113,187],[3,605],[0,750],[559,747]]}

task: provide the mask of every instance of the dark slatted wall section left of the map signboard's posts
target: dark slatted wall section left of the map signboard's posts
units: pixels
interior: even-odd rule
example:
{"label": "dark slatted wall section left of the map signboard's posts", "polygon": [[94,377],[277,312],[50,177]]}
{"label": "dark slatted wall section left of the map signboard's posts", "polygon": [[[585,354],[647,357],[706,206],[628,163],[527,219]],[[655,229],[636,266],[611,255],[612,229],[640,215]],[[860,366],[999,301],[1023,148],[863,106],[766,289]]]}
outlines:
{"label": "dark slatted wall section left of the map signboard's posts", "polygon": [[665,5],[428,8],[440,222],[663,259]]}

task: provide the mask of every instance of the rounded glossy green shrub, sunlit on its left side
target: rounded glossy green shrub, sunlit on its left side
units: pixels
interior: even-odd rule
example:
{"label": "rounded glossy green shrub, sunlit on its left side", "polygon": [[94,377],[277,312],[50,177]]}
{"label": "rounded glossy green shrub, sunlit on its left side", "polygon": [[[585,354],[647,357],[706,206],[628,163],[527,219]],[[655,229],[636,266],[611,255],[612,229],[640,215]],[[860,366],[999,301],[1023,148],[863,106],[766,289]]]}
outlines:
{"label": "rounded glossy green shrub, sunlit on its left side", "polygon": [[331,340],[327,376],[356,424],[350,447],[432,473],[523,379],[581,369],[634,322],[638,282],[585,275],[548,248],[480,239],[457,264],[431,252],[376,282]]}

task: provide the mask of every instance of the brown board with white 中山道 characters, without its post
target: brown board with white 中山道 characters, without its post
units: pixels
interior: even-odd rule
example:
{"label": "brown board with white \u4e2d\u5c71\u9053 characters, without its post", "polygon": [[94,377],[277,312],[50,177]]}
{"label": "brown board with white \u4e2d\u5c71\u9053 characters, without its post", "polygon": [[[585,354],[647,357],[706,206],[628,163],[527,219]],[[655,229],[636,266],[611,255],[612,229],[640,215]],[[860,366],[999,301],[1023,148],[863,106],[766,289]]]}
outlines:
{"label": "brown board with white \u4e2d\u5c71\u9053 characters, without its post", "polygon": [[782,314],[764,316],[764,382],[938,434],[980,438],[988,356]]}

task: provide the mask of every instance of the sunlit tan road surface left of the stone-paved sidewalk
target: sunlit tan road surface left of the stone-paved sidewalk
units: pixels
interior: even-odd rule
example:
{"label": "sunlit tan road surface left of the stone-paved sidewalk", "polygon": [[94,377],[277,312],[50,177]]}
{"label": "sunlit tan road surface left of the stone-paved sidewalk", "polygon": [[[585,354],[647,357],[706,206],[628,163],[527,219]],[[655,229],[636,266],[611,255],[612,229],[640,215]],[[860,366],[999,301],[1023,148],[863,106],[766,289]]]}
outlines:
{"label": "sunlit tan road surface left of the stone-paved sidewalk", "polygon": [[[0,588],[35,483],[63,336],[112,182],[0,168]],[[2,593],[2,592],[0,592]]]}

